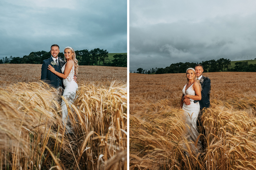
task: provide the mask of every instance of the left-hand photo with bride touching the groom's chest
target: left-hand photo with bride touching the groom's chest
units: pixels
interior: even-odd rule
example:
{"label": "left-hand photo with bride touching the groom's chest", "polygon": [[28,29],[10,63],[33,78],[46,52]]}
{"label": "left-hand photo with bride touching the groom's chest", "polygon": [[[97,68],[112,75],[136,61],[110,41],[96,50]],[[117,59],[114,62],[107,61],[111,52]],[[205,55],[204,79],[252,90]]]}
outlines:
{"label": "left-hand photo with bride touching the groom's chest", "polygon": [[0,4],[0,169],[128,169],[127,1]]}

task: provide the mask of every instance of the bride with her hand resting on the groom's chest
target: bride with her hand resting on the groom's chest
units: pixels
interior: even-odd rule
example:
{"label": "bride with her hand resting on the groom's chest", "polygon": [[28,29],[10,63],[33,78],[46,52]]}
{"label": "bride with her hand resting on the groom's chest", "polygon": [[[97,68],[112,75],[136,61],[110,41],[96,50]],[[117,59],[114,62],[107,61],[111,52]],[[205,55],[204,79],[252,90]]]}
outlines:
{"label": "bride with her hand resting on the groom's chest", "polygon": [[[76,96],[76,90],[78,89],[78,85],[73,79],[73,76],[78,74],[78,60],[76,59],[76,53],[71,47],[66,47],[64,49],[64,56],[65,56],[65,64],[61,68],[61,72],[57,72],[54,70],[54,68],[49,65],[48,70],[53,72],[55,75],[63,78],[63,84],[65,86],[65,90],[63,92],[63,96],[65,99],[68,100],[69,107],[71,106],[71,103],[74,102],[75,96]],[[67,133],[72,133],[71,130],[71,122],[69,121],[68,117],[68,110],[67,110],[67,103],[65,103],[63,100],[61,102],[61,109],[62,109],[62,121],[65,125],[65,122],[67,121],[66,125],[66,131]],[[66,120],[67,119],[67,120]]]}

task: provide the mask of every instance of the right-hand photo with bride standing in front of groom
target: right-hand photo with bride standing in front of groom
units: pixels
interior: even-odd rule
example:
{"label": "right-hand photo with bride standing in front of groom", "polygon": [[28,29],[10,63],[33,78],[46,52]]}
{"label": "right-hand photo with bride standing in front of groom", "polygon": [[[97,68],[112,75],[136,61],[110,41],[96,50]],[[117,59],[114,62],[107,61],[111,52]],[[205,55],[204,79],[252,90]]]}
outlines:
{"label": "right-hand photo with bride standing in front of groom", "polygon": [[254,169],[254,1],[129,1],[129,169]]}

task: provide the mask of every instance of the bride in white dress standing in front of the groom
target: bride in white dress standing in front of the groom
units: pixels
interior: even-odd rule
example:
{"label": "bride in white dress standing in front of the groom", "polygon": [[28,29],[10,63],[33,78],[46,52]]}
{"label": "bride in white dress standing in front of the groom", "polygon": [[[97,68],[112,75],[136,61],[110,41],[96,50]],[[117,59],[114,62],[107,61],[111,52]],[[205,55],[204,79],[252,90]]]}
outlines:
{"label": "bride in white dress standing in front of the groom", "polygon": [[[180,108],[185,112],[185,122],[188,124],[186,126],[186,133],[188,135],[188,140],[192,141],[191,147],[194,151],[198,152],[200,149],[200,141],[197,142],[197,147],[195,146],[197,137],[199,133],[196,127],[197,116],[200,111],[199,102],[195,103],[194,100],[201,100],[201,84],[197,80],[195,69],[188,68],[186,71],[187,74],[187,84],[185,84],[182,89],[182,98],[180,103]],[[190,105],[186,105],[183,100],[189,98],[191,101]]]}

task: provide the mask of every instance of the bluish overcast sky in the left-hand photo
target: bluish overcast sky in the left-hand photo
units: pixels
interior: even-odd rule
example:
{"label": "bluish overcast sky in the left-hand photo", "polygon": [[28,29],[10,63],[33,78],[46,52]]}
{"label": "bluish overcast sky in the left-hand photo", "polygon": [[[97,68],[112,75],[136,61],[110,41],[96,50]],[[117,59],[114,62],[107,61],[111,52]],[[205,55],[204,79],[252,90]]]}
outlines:
{"label": "bluish overcast sky in the left-hand photo", "polygon": [[127,0],[1,0],[0,59],[32,51],[127,52]]}

